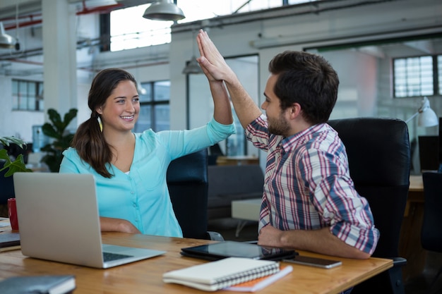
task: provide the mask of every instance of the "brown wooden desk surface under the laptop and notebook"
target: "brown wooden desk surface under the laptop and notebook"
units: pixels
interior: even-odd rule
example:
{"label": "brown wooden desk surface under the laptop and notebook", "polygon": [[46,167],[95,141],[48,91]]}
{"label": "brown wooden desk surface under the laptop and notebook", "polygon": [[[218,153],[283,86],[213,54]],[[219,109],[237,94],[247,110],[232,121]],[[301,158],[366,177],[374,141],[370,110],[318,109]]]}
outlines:
{"label": "brown wooden desk surface under the laptop and notebook", "polygon": [[[75,294],[204,293],[186,286],[163,283],[162,274],[205,262],[201,259],[181,257],[180,249],[213,241],[126,233],[103,233],[102,238],[104,243],[166,250],[167,253],[111,269],[92,269],[24,257],[20,250],[0,252],[0,280],[23,275],[73,274],[76,276],[77,285]],[[301,253],[320,256],[309,252]],[[260,290],[260,294],[340,293],[393,265],[390,259],[339,259],[342,260],[342,267],[335,269],[318,269],[292,264],[292,273]]]}

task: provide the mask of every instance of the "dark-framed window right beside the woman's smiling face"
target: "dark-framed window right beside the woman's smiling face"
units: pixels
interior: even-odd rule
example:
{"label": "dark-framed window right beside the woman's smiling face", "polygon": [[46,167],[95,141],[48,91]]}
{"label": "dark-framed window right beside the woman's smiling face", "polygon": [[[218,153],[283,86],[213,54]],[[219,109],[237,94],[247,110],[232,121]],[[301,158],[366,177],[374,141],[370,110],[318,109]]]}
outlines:
{"label": "dark-framed window right beside the woman's smiling face", "polygon": [[152,128],[155,132],[169,130],[170,81],[142,82],[138,88],[140,114],[134,131]]}

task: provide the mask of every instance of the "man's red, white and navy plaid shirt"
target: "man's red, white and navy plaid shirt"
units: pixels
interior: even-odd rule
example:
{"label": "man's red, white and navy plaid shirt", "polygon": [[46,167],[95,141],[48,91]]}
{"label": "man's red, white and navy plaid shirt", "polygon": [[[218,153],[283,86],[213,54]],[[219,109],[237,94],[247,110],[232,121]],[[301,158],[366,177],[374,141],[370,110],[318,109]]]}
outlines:
{"label": "man's red, white and navy plaid shirt", "polygon": [[267,125],[260,116],[246,129],[247,139],[268,152],[259,229],[330,227],[348,245],[373,253],[379,232],[368,202],[354,190],[338,133],[323,123],[282,137]]}

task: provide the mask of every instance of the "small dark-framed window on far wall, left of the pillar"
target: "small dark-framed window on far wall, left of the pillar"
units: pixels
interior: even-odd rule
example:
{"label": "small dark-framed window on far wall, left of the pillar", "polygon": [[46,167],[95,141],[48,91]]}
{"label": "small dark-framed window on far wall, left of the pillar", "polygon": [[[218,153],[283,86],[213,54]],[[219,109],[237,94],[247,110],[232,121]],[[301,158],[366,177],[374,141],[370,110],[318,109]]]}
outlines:
{"label": "small dark-framed window on far wall, left of the pillar", "polygon": [[12,109],[43,111],[43,82],[12,80]]}

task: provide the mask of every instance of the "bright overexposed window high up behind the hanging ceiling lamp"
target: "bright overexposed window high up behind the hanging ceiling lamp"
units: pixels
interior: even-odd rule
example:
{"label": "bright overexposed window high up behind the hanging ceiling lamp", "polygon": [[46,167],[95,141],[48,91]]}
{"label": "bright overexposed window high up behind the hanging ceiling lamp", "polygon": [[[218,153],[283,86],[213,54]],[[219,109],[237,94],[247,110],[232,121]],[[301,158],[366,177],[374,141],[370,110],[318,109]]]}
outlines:
{"label": "bright overexposed window high up behind the hanging ceiling lamp", "polygon": [[[287,4],[310,1],[291,0]],[[284,5],[284,3],[283,0],[253,0],[243,5],[236,0],[177,0],[177,5],[186,16],[178,23],[190,23],[215,16],[275,8]],[[110,13],[111,51],[170,43],[170,27],[174,22],[143,18],[143,13],[148,6],[150,4],[119,9]]]}

